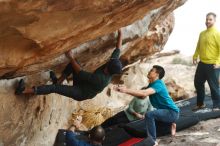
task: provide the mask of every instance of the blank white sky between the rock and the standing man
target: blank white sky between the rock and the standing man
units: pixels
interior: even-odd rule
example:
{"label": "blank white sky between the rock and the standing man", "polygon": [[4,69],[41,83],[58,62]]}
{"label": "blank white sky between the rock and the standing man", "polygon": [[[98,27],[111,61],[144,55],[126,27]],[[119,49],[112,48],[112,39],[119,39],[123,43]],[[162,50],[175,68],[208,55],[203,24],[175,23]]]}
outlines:
{"label": "blank white sky between the rock and the standing man", "polygon": [[164,51],[180,50],[181,54],[194,54],[198,37],[206,29],[208,12],[217,14],[216,27],[220,30],[220,0],[188,0],[174,11],[175,26]]}

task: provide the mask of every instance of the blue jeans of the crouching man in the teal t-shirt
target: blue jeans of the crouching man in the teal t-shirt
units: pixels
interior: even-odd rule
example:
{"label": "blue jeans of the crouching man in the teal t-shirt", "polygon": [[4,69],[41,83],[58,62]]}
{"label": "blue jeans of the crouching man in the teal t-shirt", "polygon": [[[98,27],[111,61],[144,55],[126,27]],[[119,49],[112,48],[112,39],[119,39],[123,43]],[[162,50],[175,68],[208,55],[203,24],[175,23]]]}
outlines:
{"label": "blue jeans of the crouching man in the teal t-shirt", "polygon": [[179,113],[168,109],[157,109],[147,112],[145,115],[145,122],[147,125],[147,133],[156,141],[156,126],[155,120],[162,121],[167,124],[174,123],[179,119]]}

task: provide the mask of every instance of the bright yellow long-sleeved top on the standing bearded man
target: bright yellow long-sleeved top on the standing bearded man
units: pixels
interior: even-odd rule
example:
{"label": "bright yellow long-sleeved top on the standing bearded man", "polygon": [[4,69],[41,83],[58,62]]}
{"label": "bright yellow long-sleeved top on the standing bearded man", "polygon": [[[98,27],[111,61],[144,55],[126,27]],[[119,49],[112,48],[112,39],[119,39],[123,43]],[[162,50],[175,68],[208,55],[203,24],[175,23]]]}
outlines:
{"label": "bright yellow long-sleeved top on the standing bearded man", "polygon": [[193,59],[206,64],[220,64],[220,32],[212,26],[199,35]]}

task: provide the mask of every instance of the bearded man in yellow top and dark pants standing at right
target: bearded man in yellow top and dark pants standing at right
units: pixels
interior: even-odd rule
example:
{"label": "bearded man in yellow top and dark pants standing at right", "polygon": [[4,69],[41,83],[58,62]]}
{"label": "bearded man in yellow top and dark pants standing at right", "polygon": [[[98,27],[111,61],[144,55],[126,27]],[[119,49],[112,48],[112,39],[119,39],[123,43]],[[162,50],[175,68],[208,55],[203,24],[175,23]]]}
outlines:
{"label": "bearded man in yellow top and dark pants standing at right", "polygon": [[213,110],[220,109],[219,92],[219,72],[220,72],[220,32],[214,26],[216,14],[208,13],[206,15],[207,29],[202,31],[199,36],[196,51],[193,55],[193,64],[199,63],[196,69],[194,85],[197,92],[197,106],[193,110],[205,107],[205,87],[207,81],[211,90],[213,101]]}

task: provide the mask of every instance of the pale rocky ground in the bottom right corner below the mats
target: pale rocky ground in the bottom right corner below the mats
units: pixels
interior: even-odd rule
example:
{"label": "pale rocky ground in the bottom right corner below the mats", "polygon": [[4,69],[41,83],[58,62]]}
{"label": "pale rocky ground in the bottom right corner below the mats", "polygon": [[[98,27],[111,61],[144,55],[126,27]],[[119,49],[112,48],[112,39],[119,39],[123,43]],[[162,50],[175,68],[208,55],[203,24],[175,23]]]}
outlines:
{"label": "pale rocky ground in the bottom right corner below the mats", "polygon": [[220,146],[220,118],[202,121],[199,124],[177,132],[175,137],[158,139],[160,146]]}

